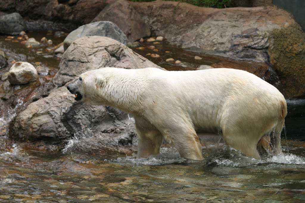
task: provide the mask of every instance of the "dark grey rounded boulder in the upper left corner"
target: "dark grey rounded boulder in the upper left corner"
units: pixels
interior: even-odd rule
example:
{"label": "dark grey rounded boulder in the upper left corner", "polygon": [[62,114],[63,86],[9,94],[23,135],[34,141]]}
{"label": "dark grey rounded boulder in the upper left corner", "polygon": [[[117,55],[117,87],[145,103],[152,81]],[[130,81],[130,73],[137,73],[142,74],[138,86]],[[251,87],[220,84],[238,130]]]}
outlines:
{"label": "dark grey rounded boulder in the upper left corner", "polygon": [[19,13],[0,16],[0,33],[17,35],[23,30],[26,30],[26,25]]}

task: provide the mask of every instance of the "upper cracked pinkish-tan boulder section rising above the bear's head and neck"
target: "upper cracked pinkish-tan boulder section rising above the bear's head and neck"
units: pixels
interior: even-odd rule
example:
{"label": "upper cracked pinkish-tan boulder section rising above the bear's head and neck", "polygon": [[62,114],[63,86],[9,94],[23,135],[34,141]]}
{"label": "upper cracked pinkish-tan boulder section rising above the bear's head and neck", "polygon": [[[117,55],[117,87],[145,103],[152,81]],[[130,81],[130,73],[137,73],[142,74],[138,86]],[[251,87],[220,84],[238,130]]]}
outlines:
{"label": "upper cracked pinkish-tan boulder section rising above the bear's head and neck", "polygon": [[53,83],[62,86],[81,73],[101,67],[158,67],[127,46],[107,37],[83,37],[65,51]]}

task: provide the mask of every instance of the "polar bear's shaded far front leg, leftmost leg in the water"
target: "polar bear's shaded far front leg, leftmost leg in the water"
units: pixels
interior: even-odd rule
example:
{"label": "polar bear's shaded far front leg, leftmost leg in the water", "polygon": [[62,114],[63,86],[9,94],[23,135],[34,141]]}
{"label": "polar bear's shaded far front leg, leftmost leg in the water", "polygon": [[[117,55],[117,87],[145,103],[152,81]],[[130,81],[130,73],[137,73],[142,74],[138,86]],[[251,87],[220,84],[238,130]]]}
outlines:
{"label": "polar bear's shaded far front leg, leftmost leg in the water", "polygon": [[147,158],[160,153],[163,136],[155,126],[144,118],[135,116],[135,129],[138,135],[137,158]]}

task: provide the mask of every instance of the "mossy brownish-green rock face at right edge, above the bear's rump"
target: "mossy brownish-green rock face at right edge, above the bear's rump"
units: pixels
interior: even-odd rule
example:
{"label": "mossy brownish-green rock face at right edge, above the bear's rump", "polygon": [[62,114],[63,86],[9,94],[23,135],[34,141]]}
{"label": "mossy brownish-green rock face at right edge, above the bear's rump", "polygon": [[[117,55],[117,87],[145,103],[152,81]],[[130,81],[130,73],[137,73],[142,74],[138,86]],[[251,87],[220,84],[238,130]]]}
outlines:
{"label": "mossy brownish-green rock face at right edge, above the bear's rump", "polygon": [[286,98],[305,96],[305,33],[298,24],[275,29],[269,37],[270,62]]}

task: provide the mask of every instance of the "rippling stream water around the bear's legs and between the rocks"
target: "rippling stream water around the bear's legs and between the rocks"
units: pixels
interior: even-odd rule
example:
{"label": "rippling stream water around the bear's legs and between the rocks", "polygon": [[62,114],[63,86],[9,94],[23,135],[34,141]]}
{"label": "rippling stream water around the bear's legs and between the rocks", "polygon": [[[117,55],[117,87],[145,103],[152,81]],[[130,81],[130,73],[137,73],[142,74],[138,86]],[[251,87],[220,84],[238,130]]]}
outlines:
{"label": "rippling stream water around the bear's legs and between the rocks", "polygon": [[[46,33],[28,33],[31,34],[40,40],[39,36]],[[3,38],[0,37],[0,42]],[[54,72],[58,70],[59,60],[55,56],[43,57],[49,55],[43,50],[37,54],[36,50],[17,49],[10,44],[13,42],[3,43],[5,49],[16,48],[17,53],[30,55],[31,63],[41,61]],[[166,58],[192,64],[188,66],[190,70],[221,61],[213,56],[195,61],[196,53],[166,44],[157,48],[161,57],[148,58],[168,70],[186,68],[165,63]],[[152,52],[135,51],[144,56]],[[1,125],[13,119],[20,105],[23,100],[9,110],[10,117],[0,118]],[[284,154],[267,160],[244,156],[218,138],[203,140],[207,147],[203,147],[204,160],[191,161],[181,158],[166,143],[159,156],[137,159],[136,141],[124,149],[103,146],[96,140],[107,138],[94,135],[90,129],[83,129],[63,146],[18,143],[0,136],[0,202],[305,202],[301,107],[301,101],[289,101],[286,118],[289,154],[282,140]],[[133,125],[132,117],[130,122]]]}

